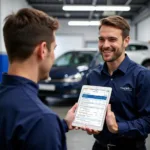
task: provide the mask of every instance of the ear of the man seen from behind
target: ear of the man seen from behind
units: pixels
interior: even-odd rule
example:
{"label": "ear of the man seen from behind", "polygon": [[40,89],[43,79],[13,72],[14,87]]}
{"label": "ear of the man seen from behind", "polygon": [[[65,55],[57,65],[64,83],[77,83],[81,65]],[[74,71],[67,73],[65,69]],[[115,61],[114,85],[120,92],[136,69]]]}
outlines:
{"label": "ear of the man seen from behind", "polygon": [[37,47],[37,55],[39,59],[44,59],[47,54],[46,42],[42,42]]}

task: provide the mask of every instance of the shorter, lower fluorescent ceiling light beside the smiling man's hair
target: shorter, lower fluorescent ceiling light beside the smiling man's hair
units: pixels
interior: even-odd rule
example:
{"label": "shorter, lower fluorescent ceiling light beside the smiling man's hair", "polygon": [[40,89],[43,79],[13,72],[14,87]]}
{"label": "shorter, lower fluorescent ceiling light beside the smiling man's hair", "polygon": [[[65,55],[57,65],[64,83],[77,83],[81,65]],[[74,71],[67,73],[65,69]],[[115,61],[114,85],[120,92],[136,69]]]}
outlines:
{"label": "shorter, lower fluorescent ceiling light beside the smiling man's hair", "polygon": [[100,21],[69,21],[69,26],[99,26]]}

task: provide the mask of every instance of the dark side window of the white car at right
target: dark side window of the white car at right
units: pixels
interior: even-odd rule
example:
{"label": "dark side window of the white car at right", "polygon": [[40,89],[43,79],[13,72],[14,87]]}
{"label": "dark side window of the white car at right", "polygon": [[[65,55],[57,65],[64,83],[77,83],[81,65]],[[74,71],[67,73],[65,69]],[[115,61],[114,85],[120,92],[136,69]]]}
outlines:
{"label": "dark side window of the white car at right", "polygon": [[141,51],[141,50],[148,50],[148,47],[146,45],[130,44],[126,48],[126,51]]}

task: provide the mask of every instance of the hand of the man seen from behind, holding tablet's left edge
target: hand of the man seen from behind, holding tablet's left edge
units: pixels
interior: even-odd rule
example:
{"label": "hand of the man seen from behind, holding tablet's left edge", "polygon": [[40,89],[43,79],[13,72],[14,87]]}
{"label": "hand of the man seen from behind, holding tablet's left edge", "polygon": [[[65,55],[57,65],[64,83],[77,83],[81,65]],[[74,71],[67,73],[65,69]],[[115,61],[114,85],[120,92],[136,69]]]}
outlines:
{"label": "hand of the man seen from behind, holding tablet's left edge", "polygon": [[72,126],[72,122],[75,118],[75,111],[78,107],[78,104],[76,103],[67,113],[66,117],[65,117],[65,121],[68,125],[69,130],[72,130],[74,127]]}

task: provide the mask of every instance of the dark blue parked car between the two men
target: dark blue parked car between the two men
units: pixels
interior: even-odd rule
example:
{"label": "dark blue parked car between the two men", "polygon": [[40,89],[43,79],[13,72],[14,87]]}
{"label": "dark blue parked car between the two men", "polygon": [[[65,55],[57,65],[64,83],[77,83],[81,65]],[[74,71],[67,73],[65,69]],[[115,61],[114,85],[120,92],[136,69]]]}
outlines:
{"label": "dark blue parked car between the two men", "polygon": [[103,63],[97,49],[80,49],[64,53],[55,60],[51,80],[39,83],[39,96],[77,99],[87,73]]}

